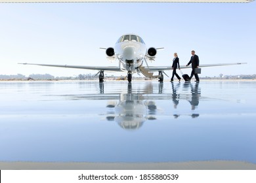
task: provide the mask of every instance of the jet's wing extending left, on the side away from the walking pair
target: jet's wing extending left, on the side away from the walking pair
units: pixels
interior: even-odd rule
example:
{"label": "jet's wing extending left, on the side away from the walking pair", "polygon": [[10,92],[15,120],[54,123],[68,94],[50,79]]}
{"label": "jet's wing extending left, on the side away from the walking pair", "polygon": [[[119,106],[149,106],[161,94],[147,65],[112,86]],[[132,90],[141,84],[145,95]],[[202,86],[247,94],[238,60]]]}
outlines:
{"label": "jet's wing extending left, on the side away from the walking pair", "polygon": [[39,64],[39,63],[18,63],[23,65],[39,65],[39,66],[47,66],[47,67],[64,67],[64,68],[73,68],[73,69],[88,69],[88,70],[96,70],[96,71],[114,71],[120,72],[120,67],[115,66],[81,66],[81,65],[51,65],[51,64]]}

